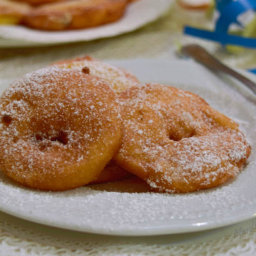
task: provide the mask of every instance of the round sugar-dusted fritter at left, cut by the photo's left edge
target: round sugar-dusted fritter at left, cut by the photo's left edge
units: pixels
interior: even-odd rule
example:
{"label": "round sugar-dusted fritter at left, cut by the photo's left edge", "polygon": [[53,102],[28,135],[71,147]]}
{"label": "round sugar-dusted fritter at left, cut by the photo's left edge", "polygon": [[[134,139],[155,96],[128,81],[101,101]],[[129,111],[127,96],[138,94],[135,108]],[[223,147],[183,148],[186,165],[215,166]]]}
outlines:
{"label": "round sugar-dusted fritter at left, cut by the photo's left edge", "polygon": [[99,175],[122,137],[116,93],[97,77],[48,67],[0,99],[0,168],[25,186],[77,188]]}

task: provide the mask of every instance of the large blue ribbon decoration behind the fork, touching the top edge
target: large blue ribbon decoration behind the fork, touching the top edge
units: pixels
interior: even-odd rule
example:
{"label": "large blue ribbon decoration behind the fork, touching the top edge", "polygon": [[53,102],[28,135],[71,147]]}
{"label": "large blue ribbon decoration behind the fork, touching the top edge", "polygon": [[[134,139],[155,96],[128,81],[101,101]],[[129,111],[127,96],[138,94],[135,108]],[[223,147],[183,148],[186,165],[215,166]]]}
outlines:
{"label": "large blue ribbon decoration behind the fork, touching the top edge", "polygon": [[228,34],[230,24],[235,23],[243,27],[243,24],[237,20],[240,14],[248,10],[256,12],[255,0],[216,0],[216,9],[220,12],[220,18],[216,21],[214,31],[185,26],[184,34],[219,42],[223,46],[232,44],[256,48],[256,38]]}

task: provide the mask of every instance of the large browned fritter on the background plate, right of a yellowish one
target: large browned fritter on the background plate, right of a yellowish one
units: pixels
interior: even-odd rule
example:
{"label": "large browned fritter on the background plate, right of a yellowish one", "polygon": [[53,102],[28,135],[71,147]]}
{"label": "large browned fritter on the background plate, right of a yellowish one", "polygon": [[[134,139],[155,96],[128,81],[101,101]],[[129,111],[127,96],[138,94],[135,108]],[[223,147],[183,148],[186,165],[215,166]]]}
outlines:
{"label": "large browned fritter on the background plate, right of a yellowish one", "polygon": [[74,0],[44,4],[24,17],[24,24],[45,30],[92,28],[122,17],[126,0]]}

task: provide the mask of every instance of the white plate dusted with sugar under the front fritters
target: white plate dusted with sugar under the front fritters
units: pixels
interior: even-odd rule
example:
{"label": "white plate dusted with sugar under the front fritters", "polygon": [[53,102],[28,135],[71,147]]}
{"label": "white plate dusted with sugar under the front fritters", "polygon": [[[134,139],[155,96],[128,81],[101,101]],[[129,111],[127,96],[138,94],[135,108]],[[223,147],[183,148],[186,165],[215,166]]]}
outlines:
{"label": "white plate dusted with sugar under the front fritters", "polygon": [[[218,188],[176,195],[106,192],[86,187],[58,193],[36,191],[17,185],[1,173],[0,210],[55,227],[127,236],[205,230],[252,218],[256,213],[256,108],[250,100],[255,97],[241,84],[225,76],[217,77],[193,61],[111,63],[131,70],[143,82],[173,84],[198,93],[214,108],[234,118],[253,147],[246,168]],[[2,91],[8,82],[1,81]]]}

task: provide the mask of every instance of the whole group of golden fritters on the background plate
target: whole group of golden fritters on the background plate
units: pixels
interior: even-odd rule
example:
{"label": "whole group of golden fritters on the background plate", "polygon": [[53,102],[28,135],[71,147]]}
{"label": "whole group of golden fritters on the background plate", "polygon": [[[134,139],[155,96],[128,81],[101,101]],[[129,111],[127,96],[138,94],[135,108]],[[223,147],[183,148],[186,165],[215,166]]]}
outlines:
{"label": "whole group of golden fritters on the background plate", "polygon": [[120,19],[129,0],[0,0],[0,24],[44,30],[83,29]]}

